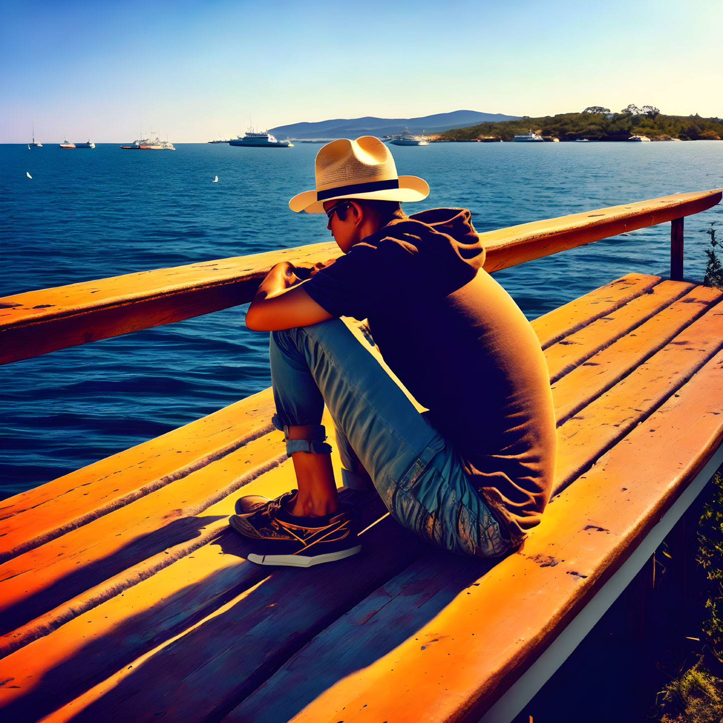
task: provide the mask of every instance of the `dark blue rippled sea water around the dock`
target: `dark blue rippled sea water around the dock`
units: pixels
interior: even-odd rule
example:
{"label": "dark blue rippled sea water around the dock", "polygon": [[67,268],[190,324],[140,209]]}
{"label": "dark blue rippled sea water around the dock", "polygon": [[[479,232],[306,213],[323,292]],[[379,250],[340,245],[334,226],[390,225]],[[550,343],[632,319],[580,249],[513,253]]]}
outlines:
{"label": "dark blue rippled sea water around the dock", "polygon": [[[317,150],[0,145],[0,296],[330,240],[324,216],[287,205],[313,187]],[[478,231],[723,185],[723,143],[714,141],[440,143],[393,153],[400,174],[432,188],[408,213],[463,206]],[[722,220],[721,206],[686,219],[686,277],[701,280],[706,230]],[[496,278],[533,319],[625,273],[667,274],[668,265],[665,224]],[[1,367],[0,497],[268,387],[268,335],[245,328],[245,308]]]}

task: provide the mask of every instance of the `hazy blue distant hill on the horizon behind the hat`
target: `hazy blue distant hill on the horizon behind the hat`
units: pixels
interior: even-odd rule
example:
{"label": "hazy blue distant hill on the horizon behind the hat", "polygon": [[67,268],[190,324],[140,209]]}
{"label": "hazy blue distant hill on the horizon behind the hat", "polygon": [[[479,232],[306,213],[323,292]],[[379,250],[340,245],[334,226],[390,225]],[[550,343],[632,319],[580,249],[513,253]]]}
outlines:
{"label": "hazy blue distant hill on the horizon behind the hat", "polygon": [[520,116],[479,111],[452,111],[421,118],[336,118],[317,123],[292,123],[288,126],[270,128],[277,138],[356,138],[361,135],[392,135],[401,133],[405,127],[411,133],[441,133],[450,128],[464,128],[484,122],[513,121]]}

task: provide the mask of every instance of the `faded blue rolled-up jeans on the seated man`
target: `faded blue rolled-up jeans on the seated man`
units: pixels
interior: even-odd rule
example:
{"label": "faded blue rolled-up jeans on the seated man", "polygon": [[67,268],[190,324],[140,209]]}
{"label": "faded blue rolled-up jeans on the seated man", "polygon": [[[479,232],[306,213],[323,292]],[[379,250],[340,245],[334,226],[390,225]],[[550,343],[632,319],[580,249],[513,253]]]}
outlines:
{"label": "faded blue rolled-up jeans on the seated man", "polygon": [[272,332],[270,363],[275,426],[320,425],[326,403],[346,487],[373,484],[398,523],[442,548],[479,557],[511,549],[460,455],[351,320]]}

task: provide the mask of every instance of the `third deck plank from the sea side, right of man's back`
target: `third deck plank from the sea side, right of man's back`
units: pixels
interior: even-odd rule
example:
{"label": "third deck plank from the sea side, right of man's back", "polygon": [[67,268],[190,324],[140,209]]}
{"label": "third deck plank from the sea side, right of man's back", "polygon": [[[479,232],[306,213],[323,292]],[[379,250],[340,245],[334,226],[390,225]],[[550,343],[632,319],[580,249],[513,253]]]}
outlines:
{"label": "third deck plank from the sea side, right of man's back", "polygon": [[638,326],[635,333],[618,339],[562,377],[552,385],[557,424],[567,422],[573,414],[607,392],[721,299],[722,291],[696,286],[690,294]]}

